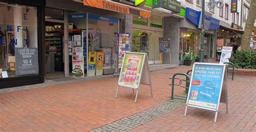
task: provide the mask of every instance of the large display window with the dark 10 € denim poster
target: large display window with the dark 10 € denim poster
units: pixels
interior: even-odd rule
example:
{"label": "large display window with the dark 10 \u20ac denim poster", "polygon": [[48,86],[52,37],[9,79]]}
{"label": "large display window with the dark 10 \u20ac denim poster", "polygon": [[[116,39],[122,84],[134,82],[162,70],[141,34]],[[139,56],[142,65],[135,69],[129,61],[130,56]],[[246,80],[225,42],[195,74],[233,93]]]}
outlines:
{"label": "large display window with the dark 10 \u20ac denim poster", "polygon": [[0,78],[38,75],[37,9],[0,3]]}

